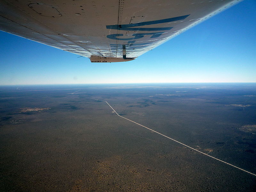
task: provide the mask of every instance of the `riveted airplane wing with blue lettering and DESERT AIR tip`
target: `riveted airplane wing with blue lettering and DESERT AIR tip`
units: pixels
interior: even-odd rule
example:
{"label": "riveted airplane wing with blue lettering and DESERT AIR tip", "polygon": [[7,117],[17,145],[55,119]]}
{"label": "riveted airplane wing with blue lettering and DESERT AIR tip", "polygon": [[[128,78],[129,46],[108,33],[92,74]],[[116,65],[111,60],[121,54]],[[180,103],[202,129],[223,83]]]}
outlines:
{"label": "riveted airplane wing with blue lettering and DESERT AIR tip", "polygon": [[0,0],[0,30],[89,57],[137,58],[241,0]]}

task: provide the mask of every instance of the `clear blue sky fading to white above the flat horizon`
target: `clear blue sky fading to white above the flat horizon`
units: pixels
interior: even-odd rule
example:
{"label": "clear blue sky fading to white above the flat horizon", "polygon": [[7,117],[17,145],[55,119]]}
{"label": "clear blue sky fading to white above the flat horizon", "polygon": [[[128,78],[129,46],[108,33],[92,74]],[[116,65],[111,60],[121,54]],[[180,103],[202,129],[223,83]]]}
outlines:
{"label": "clear blue sky fading to white above the flat horizon", "polygon": [[0,85],[256,82],[256,0],[244,0],[135,60],[89,58],[0,31]]}

